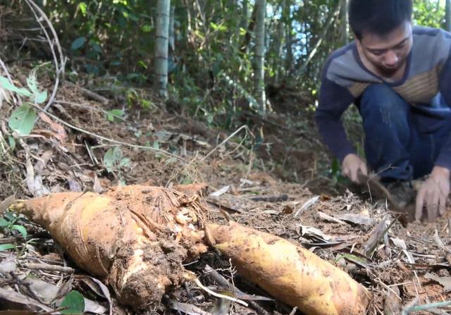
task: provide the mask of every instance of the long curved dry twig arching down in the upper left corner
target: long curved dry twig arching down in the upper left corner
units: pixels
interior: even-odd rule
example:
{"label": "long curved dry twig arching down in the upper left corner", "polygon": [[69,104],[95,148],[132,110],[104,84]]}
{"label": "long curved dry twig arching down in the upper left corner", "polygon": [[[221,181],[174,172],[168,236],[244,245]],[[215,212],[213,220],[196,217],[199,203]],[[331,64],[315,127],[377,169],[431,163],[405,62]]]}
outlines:
{"label": "long curved dry twig arching down in the upper left corner", "polygon": [[[61,49],[61,45],[59,44],[59,39],[58,39],[58,35],[56,34],[56,30],[54,29],[54,26],[51,24],[51,21],[49,20],[49,18],[47,18],[47,15],[32,0],[25,0],[25,2],[30,7],[30,10],[32,11],[33,15],[35,16],[35,18],[37,20],[37,23],[39,23],[39,25],[41,26],[42,32],[44,32],[44,35],[47,38],[47,42],[49,42],[49,47],[50,47],[50,50],[51,50],[51,54],[54,57],[56,78],[55,78],[54,89],[51,92],[51,95],[49,97],[49,101],[47,101],[47,104],[44,106],[44,112],[47,112],[47,109],[49,109],[50,105],[53,103],[53,101],[55,99],[56,91],[58,90],[58,85],[59,85],[59,78],[60,78],[61,73],[64,72],[64,67],[66,65],[66,58],[64,57],[63,49]],[[61,64],[58,63],[58,57],[56,56],[56,52],[55,52],[55,49],[54,49],[54,44],[52,43],[52,41],[50,39],[49,33],[47,32],[46,27],[44,27],[44,25],[42,25],[41,19],[37,15],[36,11],[39,12],[39,15],[46,21],[47,25],[49,25],[49,28],[51,30],[51,34],[54,37],[54,43],[56,44],[56,47],[58,48],[58,54],[59,54],[59,58],[60,58],[59,62]]]}

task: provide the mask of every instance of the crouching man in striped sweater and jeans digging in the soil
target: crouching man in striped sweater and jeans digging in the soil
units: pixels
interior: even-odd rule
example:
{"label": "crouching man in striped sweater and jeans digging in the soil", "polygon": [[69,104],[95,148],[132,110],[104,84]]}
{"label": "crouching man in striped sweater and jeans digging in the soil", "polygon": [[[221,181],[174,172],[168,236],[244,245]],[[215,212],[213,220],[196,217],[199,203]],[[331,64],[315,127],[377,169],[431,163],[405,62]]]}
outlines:
{"label": "crouching man in striped sweater and jeans digging in the soil", "polygon": [[[323,69],[319,132],[350,180],[371,168],[404,202],[415,201],[410,180],[428,175],[415,217],[433,221],[450,192],[451,34],[413,26],[412,0],[351,0],[350,27],[354,42]],[[363,119],[366,162],[340,122],[352,102]]]}

